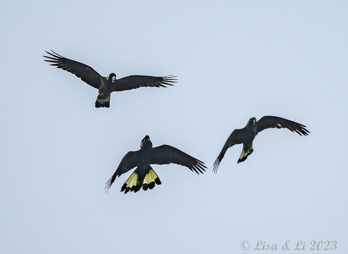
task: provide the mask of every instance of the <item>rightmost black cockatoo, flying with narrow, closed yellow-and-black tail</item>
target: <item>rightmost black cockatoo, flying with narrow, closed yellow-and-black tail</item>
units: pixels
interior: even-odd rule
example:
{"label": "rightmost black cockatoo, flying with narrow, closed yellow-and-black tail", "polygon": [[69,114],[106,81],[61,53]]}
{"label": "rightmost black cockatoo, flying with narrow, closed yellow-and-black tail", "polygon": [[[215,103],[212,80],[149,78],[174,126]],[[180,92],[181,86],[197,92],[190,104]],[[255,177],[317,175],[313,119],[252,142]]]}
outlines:
{"label": "rightmost black cockatoo, flying with narrow, closed yellow-and-black tail", "polygon": [[287,128],[291,130],[292,132],[294,131],[297,132],[301,136],[302,134],[306,136],[310,132],[306,130],[304,127],[307,127],[307,126],[304,126],[303,124],[299,124],[299,123],[287,120],[282,117],[277,117],[277,116],[264,116],[257,122],[256,122],[256,118],[252,117],[249,119],[249,121],[247,122],[244,128],[235,129],[234,131],[232,131],[226,143],[222,147],[222,150],[219,156],[217,156],[214,162],[213,171],[216,173],[217,168],[219,167],[221,160],[223,156],[225,155],[227,149],[237,144],[243,144],[243,151],[242,151],[242,154],[240,154],[237,164],[242,161],[245,161],[246,158],[254,151],[253,141],[255,139],[255,136],[260,131],[263,131],[264,129]]}

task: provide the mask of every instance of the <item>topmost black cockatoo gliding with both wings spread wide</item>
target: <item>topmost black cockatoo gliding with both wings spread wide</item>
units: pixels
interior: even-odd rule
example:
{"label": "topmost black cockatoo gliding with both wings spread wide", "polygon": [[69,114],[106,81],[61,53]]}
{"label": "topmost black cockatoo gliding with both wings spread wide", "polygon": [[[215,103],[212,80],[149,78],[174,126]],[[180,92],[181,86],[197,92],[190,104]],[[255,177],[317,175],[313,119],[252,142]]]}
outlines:
{"label": "topmost black cockatoo gliding with both wings spread wide", "polygon": [[66,70],[75,74],[78,78],[81,78],[88,85],[93,86],[99,90],[97,100],[95,102],[95,107],[110,107],[110,94],[112,92],[119,92],[125,90],[131,90],[139,87],[145,86],[156,86],[156,87],[166,87],[165,85],[173,85],[171,83],[176,83],[177,79],[174,79],[176,76],[169,75],[163,77],[153,77],[153,76],[141,76],[141,75],[132,75],[120,79],[116,79],[116,74],[111,73],[108,77],[102,77],[98,72],[96,72],[92,67],[80,63],[68,58],[65,58],[61,55],[58,55],[54,51],[54,54],[46,51],[50,56],[44,56],[50,60],[44,60],[50,62],[52,66]]}

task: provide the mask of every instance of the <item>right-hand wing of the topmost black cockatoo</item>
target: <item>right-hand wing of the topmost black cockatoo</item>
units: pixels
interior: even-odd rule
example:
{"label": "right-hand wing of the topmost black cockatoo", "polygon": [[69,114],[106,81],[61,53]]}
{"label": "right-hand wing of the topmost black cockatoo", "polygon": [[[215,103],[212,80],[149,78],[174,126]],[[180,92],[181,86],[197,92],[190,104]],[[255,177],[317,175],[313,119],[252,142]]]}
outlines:
{"label": "right-hand wing of the topmost black cockatoo", "polygon": [[176,83],[176,76],[164,76],[164,77],[153,77],[153,76],[141,76],[132,75],[124,78],[117,79],[115,89],[113,91],[125,91],[131,90],[139,87],[145,86],[156,86],[156,87],[166,87],[165,85],[173,86],[170,83]]}

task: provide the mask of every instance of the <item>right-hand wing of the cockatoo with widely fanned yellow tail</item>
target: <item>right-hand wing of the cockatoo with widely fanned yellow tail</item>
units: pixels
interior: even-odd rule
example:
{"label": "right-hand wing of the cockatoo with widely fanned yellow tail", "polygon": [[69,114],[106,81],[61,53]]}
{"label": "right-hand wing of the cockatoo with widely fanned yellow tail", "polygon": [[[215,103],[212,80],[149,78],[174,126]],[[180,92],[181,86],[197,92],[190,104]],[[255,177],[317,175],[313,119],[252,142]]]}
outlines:
{"label": "right-hand wing of the cockatoo with widely fanned yellow tail", "polygon": [[192,156],[173,146],[161,145],[152,148],[150,164],[161,165],[169,163],[175,163],[188,167],[191,171],[194,170],[197,174],[199,174],[198,171],[203,174],[202,170],[205,171],[204,168],[207,168],[203,165],[204,162],[193,158]]}

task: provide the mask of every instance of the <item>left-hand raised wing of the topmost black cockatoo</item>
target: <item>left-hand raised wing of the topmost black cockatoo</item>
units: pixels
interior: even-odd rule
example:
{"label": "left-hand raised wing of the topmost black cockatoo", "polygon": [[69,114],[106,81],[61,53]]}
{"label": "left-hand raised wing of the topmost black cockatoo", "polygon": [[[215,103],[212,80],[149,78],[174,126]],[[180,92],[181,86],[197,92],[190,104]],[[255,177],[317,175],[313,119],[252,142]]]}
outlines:
{"label": "left-hand raised wing of the topmost black cockatoo", "polygon": [[81,78],[88,85],[91,85],[91,86],[99,89],[103,77],[100,74],[98,74],[98,72],[93,70],[92,67],[90,67],[84,63],[80,63],[80,62],[65,58],[61,55],[58,55],[54,51],[52,51],[52,52],[55,55],[46,51],[47,54],[50,54],[53,57],[44,56],[44,57],[46,57],[48,59],[52,59],[52,60],[44,60],[44,61],[53,63],[50,65],[56,66],[57,68],[60,68],[60,69],[69,71],[72,74],[75,74],[76,77]]}

